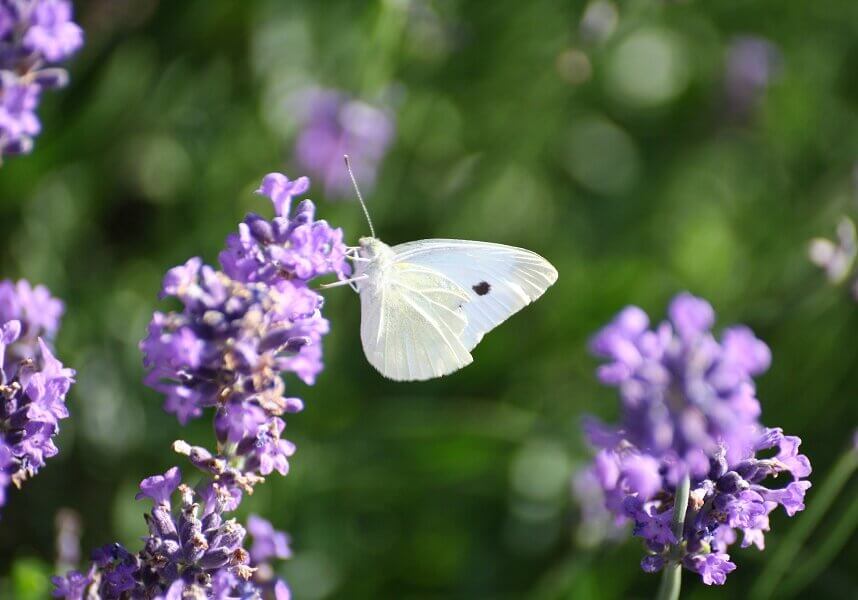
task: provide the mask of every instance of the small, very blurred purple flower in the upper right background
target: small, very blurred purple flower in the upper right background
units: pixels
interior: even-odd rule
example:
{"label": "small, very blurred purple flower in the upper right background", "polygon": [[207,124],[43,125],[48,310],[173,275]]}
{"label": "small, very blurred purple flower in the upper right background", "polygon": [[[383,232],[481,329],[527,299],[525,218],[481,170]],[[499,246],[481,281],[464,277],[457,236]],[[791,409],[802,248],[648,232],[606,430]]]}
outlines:
{"label": "small, very blurred purple flower in the upper right background", "polygon": [[780,73],[781,54],[770,41],[751,36],[734,39],[727,49],[725,91],[730,113],[750,117],[772,80]]}

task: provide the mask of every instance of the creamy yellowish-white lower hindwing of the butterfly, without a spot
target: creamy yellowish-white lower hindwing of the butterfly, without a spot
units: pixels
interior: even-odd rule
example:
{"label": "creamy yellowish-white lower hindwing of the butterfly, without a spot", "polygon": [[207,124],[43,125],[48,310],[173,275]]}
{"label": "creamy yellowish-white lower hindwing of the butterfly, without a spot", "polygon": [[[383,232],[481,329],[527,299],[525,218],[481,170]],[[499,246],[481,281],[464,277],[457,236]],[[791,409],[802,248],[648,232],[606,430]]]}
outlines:
{"label": "creamy yellowish-white lower hindwing of the butterfly, without a spot", "polygon": [[462,340],[469,295],[435,269],[391,262],[360,286],[360,298],[364,353],[385,377],[432,379],[473,360]]}

